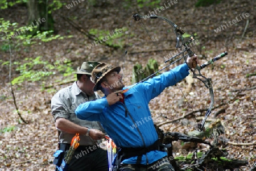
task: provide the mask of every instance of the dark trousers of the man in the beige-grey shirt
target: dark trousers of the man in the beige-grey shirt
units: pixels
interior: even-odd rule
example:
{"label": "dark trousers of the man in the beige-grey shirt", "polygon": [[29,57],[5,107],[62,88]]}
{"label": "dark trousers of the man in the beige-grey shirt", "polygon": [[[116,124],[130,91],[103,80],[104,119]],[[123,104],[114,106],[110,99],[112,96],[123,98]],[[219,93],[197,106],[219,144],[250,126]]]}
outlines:
{"label": "dark trousers of the man in the beige-grey shirt", "polygon": [[108,153],[94,146],[79,146],[69,163],[68,171],[108,171]]}

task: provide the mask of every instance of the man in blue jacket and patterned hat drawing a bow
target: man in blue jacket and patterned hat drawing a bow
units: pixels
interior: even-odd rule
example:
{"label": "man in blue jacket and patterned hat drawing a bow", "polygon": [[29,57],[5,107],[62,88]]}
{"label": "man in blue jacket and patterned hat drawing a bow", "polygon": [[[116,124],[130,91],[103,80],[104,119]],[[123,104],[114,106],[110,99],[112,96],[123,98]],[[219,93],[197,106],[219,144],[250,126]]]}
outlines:
{"label": "man in blue jacket and patterned hat drawing a bow", "polygon": [[119,66],[100,64],[92,71],[94,91],[105,97],[82,103],[76,109],[80,119],[98,121],[120,148],[115,157],[119,170],[174,170],[158,142],[148,103],[162,91],[183,80],[189,69],[195,68],[197,56],[188,57],[185,64],[129,88],[123,85]]}

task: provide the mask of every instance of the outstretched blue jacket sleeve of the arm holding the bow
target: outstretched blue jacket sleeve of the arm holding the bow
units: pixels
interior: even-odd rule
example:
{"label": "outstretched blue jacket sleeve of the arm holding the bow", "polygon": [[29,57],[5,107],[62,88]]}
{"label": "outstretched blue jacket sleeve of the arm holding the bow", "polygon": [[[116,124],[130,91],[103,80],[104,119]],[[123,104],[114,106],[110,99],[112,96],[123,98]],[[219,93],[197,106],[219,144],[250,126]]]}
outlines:
{"label": "outstretched blue jacket sleeve of the arm holding the bow", "polygon": [[[169,86],[174,86],[177,82],[183,80],[189,74],[187,64],[181,64],[168,72],[151,78],[143,84],[138,84],[139,91],[146,95],[147,101],[157,97],[162,91]],[[150,93],[149,93],[150,92]]]}

